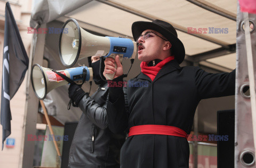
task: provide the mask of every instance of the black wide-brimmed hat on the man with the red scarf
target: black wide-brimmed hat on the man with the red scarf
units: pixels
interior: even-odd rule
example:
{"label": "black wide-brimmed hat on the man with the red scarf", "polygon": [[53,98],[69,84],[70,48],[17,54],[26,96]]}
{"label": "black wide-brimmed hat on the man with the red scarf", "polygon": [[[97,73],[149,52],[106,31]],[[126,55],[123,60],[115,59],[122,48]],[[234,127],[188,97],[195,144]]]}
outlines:
{"label": "black wide-brimmed hat on the man with the red scarf", "polygon": [[174,58],[178,63],[181,63],[184,60],[184,45],[178,38],[177,31],[170,23],[157,19],[152,22],[136,21],[132,24],[132,35],[134,40],[136,41],[141,33],[146,29],[155,30],[162,34],[172,44],[172,55],[174,55]]}

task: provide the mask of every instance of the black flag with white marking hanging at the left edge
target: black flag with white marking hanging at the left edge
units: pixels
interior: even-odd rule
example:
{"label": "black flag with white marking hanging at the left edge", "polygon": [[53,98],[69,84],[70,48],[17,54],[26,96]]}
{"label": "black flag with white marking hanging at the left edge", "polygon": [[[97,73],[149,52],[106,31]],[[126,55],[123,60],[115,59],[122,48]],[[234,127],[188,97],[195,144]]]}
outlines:
{"label": "black flag with white marking hanging at the left edge", "polygon": [[11,134],[10,100],[18,91],[28,69],[28,55],[22,43],[18,26],[9,2],[5,5],[4,53],[1,95],[2,150],[5,139]]}

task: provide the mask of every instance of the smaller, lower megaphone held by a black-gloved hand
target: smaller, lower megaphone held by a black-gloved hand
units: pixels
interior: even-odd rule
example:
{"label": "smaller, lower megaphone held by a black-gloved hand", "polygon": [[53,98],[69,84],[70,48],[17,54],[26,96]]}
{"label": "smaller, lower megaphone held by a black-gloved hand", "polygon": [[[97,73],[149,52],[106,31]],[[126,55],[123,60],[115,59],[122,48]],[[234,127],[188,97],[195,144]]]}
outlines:
{"label": "smaller, lower megaphone held by a black-gloved hand", "polygon": [[[77,83],[83,81],[84,77],[85,81],[92,81],[93,77],[92,68],[85,66],[57,71]],[[32,67],[31,82],[36,97],[40,100],[43,100],[51,90],[68,84],[65,79],[54,73],[52,69],[41,67],[38,64]]]}

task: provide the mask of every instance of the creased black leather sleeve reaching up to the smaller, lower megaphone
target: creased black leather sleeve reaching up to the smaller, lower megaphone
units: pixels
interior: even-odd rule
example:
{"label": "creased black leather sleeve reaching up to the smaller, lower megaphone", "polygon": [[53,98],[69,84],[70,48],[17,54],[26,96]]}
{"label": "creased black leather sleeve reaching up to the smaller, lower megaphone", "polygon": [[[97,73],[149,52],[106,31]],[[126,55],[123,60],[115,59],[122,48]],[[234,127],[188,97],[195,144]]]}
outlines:
{"label": "creased black leather sleeve reaching up to the smaller, lower megaphone", "polygon": [[106,110],[107,102],[103,106],[100,106],[88,94],[85,94],[78,106],[83,113],[87,114],[90,121],[100,129],[104,130],[108,127]]}

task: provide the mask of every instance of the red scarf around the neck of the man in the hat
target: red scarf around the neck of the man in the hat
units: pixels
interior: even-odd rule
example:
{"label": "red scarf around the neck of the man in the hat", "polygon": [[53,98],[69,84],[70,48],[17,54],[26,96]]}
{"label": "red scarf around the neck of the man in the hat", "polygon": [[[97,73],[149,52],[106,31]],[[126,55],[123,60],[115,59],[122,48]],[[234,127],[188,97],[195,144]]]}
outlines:
{"label": "red scarf around the neck of the man in the hat", "polygon": [[154,81],[157,73],[159,72],[159,70],[167,63],[170,62],[171,60],[174,60],[174,56],[171,57],[167,57],[166,59],[164,59],[163,61],[157,63],[156,66],[151,66],[148,67],[148,64],[146,62],[141,62],[140,64],[140,68],[141,68],[141,72],[145,75],[147,75],[148,77],[150,77],[150,79],[152,81]]}

